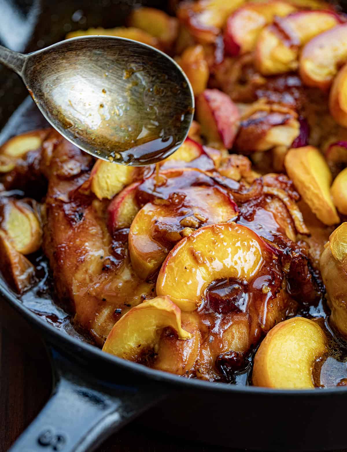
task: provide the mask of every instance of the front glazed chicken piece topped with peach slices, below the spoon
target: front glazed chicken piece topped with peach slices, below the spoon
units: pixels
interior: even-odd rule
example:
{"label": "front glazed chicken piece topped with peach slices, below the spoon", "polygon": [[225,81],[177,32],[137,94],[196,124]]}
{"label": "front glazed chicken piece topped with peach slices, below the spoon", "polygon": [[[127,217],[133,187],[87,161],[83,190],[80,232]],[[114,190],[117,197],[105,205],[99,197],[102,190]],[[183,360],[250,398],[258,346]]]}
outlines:
{"label": "front glazed chicken piece topped with peach slices, below the spoon", "polygon": [[[180,375],[232,381],[264,334],[318,297],[307,246],[295,243],[297,233],[308,231],[296,206],[299,195],[285,175],[260,177],[237,155],[221,157],[218,171],[204,146],[186,143],[181,158],[199,156],[172,157],[158,171],[105,162],[118,181],[119,171],[132,173],[132,184],[111,201],[92,192],[99,162],[54,131],[40,151],[17,161],[13,174],[27,168],[23,182],[35,167],[37,180],[48,181],[43,250],[57,297],[78,328],[102,346],[124,318],[139,344],[120,355]],[[204,165],[207,171],[199,169]],[[236,170],[238,181],[223,175]],[[8,189],[18,184],[11,177],[4,183]],[[97,193],[104,188],[109,184]],[[178,246],[188,254],[179,255]],[[165,306],[174,301],[180,308],[179,327],[189,339],[179,338],[177,322],[159,322],[166,309],[160,303],[152,308],[160,334],[147,343],[142,338],[146,325],[134,308],[157,295]]]}

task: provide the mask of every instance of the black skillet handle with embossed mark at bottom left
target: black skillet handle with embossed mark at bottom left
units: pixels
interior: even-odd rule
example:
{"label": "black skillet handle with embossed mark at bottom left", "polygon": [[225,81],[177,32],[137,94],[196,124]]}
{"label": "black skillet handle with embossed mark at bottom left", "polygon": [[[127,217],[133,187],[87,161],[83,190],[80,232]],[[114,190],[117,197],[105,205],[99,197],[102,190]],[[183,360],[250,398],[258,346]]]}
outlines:
{"label": "black skillet handle with embossed mark at bottom left", "polygon": [[8,452],[86,452],[165,397],[156,384],[101,383],[88,370],[51,350],[51,398]]}

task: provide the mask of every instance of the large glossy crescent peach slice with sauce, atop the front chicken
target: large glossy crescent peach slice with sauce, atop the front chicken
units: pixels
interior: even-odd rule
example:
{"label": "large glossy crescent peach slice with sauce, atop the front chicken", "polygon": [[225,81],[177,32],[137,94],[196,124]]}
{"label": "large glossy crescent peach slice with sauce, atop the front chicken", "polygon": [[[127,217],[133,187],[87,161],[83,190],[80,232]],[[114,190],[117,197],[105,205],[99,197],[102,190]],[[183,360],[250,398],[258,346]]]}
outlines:
{"label": "large glossy crescent peach slice with sauce, atop the front chicken", "polygon": [[234,222],[205,226],[171,250],[157,278],[157,294],[170,294],[182,311],[194,311],[218,279],[249,281],[271,253],[246,226]]}

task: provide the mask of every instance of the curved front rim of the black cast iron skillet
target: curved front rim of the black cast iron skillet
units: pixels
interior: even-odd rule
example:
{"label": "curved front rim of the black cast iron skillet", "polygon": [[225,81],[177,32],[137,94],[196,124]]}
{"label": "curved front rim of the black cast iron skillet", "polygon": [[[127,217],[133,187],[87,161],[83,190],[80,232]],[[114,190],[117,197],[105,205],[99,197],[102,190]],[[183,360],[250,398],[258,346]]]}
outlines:
{"label": "curved front rim of the black cast iron skillet", "polygon": [[[341,395],[347,394],[347,388],[335,387],[328,389],[299,389],[299,390],[291,390],[291,389],[272,389],[272,388],[263,388],[257,386],[237,386],[233,384],[221,383],[221,382],[211,382],[204,381],[198,379],[188,379],[184,377],[180,377],[175,374],[171,374],[169,372],[164,372],[160,370],[151,369],[150,367],[146,367],[143,364],[132,363],[131,361],[126,361],[125,359],[118,358],[116,356],[111,355],[110,353],[102,352],[100,348],[97,348],[96,345],[88,344],[83,342],[73,336],[70,336],[67,333],[64,333],[62,330],[58,330],[53,325],[50,325],[48,322],[40,318],[39,315],[35,314],[29,308],[23,305],[23,303],[15,296],[14,292],[7,287],[7,283],[5,280],[0,277],[0,296],[4,298],[6,302],[8,302],[16,311],[18,311],[31,325],[33,325],[40,333],[42,334],[42,330],[44,332],[44,338],[47,337],[50,339],[54,339],[53,342],[57,342],[59,346],[62,348],[73,347],[74,350],[78,350],[78,348],[82,348],[83,352],[87,355],[92,355],[93,358],[101,359],[102,361],[106,361],[107,364],[111,364],[113,366],[120,367],[122,370],[130,370],[132,373],[140,374],[143,377],[147,377],[149,380],[155,380],[160,383],[168,383],[171,386],[180,386],[181,389],[195,389],[196,391],[204,390],[204,391],[218,391],[218,392],[231,392],[237,394],[254,394],[254,395],[268,395],[272,397],[276,396],[299,396],[299,397],[329,397],[331,395]],[[42,334],[43,335],[43,334]],[[78,364],[77,364],[78,365]],[[100,377],[99,377],[100,378]],[[101,380],[106,380],[102,379]],[[183,388],[182,388],[183,387]]]}

